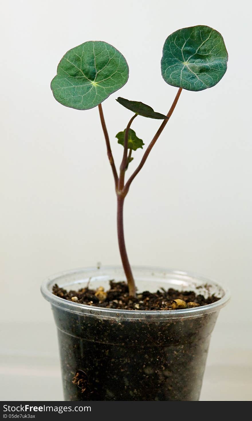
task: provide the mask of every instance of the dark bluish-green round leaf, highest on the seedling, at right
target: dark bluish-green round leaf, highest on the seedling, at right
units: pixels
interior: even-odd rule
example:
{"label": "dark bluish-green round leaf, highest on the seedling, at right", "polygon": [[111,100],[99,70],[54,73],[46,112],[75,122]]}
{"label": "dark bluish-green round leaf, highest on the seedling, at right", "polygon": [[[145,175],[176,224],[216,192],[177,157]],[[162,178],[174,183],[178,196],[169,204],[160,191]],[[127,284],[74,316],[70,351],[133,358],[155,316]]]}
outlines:
{"label": "dark bluish-green round leaf, highest on the seedling, at right", "polygon": [[179,29],[165,40],[161,72],[169,85],[202,91],[220,81],[228,52],[222,35],[208,26]]}

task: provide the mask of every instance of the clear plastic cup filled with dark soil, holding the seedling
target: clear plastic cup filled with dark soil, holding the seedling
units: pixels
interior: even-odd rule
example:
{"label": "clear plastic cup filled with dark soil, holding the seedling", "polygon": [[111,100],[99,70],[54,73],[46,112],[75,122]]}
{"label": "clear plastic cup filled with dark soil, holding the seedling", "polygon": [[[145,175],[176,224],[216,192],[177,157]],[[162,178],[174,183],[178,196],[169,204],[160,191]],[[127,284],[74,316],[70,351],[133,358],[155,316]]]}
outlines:
{"label": "clear plastic cup filled with dark soil, holding the seedling", "polygon": [[121,267],[77,269],[50,277],[41,291],[58,330],[64,399],[72,401],[199,400],[210,336],[230,294],[195,274],[133,267],[138,293],[160,288],[215,294],[205,306],[139,311],[77,304],[53,295],[125,280]]}

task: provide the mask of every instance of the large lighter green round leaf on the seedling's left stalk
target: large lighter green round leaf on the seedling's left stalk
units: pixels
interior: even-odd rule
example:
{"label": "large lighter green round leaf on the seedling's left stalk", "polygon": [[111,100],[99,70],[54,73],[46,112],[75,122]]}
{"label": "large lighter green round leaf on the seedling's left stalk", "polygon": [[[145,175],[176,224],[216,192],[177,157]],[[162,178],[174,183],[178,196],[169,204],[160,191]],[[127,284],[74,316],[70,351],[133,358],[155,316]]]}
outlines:
{"label": "large lighter green round leaf on the seedling's left stalk", "polygon": [[116,48],[103,41],[88,41],[67,51],[51,89],[66,107],[90,109],[122,88],[128,77],[127,61]]}

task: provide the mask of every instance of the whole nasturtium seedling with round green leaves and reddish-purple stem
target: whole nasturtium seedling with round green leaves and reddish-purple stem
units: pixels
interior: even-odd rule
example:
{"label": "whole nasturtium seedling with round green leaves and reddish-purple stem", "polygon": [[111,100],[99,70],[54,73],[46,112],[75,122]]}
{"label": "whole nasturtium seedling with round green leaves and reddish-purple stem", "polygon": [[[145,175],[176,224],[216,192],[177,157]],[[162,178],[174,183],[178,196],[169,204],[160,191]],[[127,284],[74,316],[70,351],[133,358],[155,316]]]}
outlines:
{"label": "whole nasturtium seedling with round green leaves and reddish-purple stem", "polygon": [[[108,43],[88,41],[69,50],[58,64],[57,75],[51,82],[55,99],[66,107],[75,109],[84,110],[98,106],[107,155],[114,176],[118,243],[130,296],[136,295],[136,288],[124,238],[125,197],[132,181],[143,168],[151,149],[169,121],[182,89],[202,91],[216,85],[225,74],[227,61],[228,53],[223,37],[208,26],[197,25],[179,29],[167,37],[163,47],[161,73],[165,82],[179,88],[178,92],[167,115],[155,112],[149,105],[140,101],[117,98],[119,104],[133,112],[126,129],[116,135],[118,143],[123,145],[119,172],[114,163],[101,102],[127,82],[129,69],[125,58]],[[130,127],[138,115],[159,119],[162,123],[146,148],[139,165],[125,182],[125,172],[133,160],[132,152],[142,149],[144,145],[142,139],[139,139]]]}

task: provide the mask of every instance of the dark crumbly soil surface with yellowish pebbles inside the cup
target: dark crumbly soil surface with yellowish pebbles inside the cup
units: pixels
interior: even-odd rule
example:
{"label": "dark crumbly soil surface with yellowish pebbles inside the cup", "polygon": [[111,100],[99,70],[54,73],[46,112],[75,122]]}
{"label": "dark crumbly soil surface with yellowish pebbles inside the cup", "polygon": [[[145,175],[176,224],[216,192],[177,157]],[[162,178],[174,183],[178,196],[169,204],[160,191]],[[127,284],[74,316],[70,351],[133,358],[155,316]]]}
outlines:
{"label": "dark crumbly soil surface with yellowish pebbles inside the cup", "polygon": [[82,288],[78,291],[66,291],[53,286],[53,294],[80,304],[87,304],[108,309],[123,310],[176,310],[212,304],[220,298],[215,295],[205,298],[193,291],[178,291],[173,288],[157,290],[156,293],[144,291],[136,298],[129,296],[128,286],[125,282],[110,281],[110,289],[104,291],[103,287],[96,290]]}

